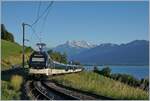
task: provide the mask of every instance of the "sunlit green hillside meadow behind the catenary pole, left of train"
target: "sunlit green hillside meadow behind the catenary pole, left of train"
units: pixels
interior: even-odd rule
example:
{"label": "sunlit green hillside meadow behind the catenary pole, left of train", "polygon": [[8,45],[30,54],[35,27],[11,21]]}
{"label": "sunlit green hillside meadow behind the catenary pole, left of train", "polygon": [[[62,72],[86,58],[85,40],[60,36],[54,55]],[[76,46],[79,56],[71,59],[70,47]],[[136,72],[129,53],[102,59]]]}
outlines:
{"label": "sunlit green hillside meadow behind the catenary pole, left of train", "polygon": [[[1,70],[9,69],[12,65],[22,63],[22,46],[17,43],[1,40]],[[25,55],[28,59],[30,52]]]}

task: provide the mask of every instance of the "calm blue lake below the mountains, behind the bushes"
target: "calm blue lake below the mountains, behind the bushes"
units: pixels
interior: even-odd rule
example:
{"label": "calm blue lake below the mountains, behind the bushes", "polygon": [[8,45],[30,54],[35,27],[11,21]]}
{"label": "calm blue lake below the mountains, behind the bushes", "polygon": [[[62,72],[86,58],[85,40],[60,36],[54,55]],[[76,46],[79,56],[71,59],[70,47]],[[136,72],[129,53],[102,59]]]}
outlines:
{"label": "calm blue lake below the mountains, behind the bushes", "polygon": [[[84,66],[85,70],[91,71],[94,66]],[[101,70],[106,66],[98,66]],[[108,66],[111,69],[111,73],[125,73],[136,77],[137,79],[149,77],[149,66]]]}

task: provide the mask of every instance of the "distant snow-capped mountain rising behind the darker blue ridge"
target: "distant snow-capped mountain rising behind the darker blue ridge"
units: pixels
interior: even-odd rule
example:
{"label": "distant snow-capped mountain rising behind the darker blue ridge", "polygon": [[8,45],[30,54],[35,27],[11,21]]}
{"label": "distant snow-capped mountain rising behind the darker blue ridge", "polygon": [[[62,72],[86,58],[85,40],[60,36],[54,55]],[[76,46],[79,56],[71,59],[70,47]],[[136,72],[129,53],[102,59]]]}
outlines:
{"label": "distant snow-capped mountain rising behind the darker blue ridge", "polygon": [[76,55],[80,52],[83,52],[85,50],[91,49],[96,47],[97,45],[91,44],[86,41],[67,41],[64,44],[58,45],[55,48],[53,48],[54,51],[58,51],[61,53],[66,53],[68,58],[70,58],[73,55]]}

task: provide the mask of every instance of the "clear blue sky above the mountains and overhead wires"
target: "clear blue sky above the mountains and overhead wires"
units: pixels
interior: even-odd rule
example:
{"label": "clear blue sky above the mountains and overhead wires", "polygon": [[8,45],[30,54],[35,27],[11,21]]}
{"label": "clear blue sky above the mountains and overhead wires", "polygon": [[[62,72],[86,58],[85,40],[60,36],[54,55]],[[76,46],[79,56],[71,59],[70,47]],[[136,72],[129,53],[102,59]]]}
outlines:
{"label": "clear blue sky above the mountains and overhead wires", "polygon": [[[3,1],[1,20],[22,44],[22,23],[32,24],[50,2]],[[67,40],[85,40],[93,44],[127,43],[148,40],[149,11],[147,1],[55,1],[46,20],[44,16],[33,28],[25,27],[26,45],[35,46],[41,38],[47,47]],[[43,24],[45,21],[45,24]]]}

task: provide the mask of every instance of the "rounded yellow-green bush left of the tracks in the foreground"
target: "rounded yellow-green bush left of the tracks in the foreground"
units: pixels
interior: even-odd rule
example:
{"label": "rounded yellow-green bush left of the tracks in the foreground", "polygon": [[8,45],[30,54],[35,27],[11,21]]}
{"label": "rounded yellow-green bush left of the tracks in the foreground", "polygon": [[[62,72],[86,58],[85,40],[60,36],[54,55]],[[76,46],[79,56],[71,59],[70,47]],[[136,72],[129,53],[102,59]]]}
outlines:
{"label": "rounded yellow-green bush left of the tracks in the foreground", "polygon": [[11,86],[13,87],[14,90],[18,91],[21,88],[21,84],[23,83],[23,78],[22,76],[19,75],[13,75],[11,77]]}

